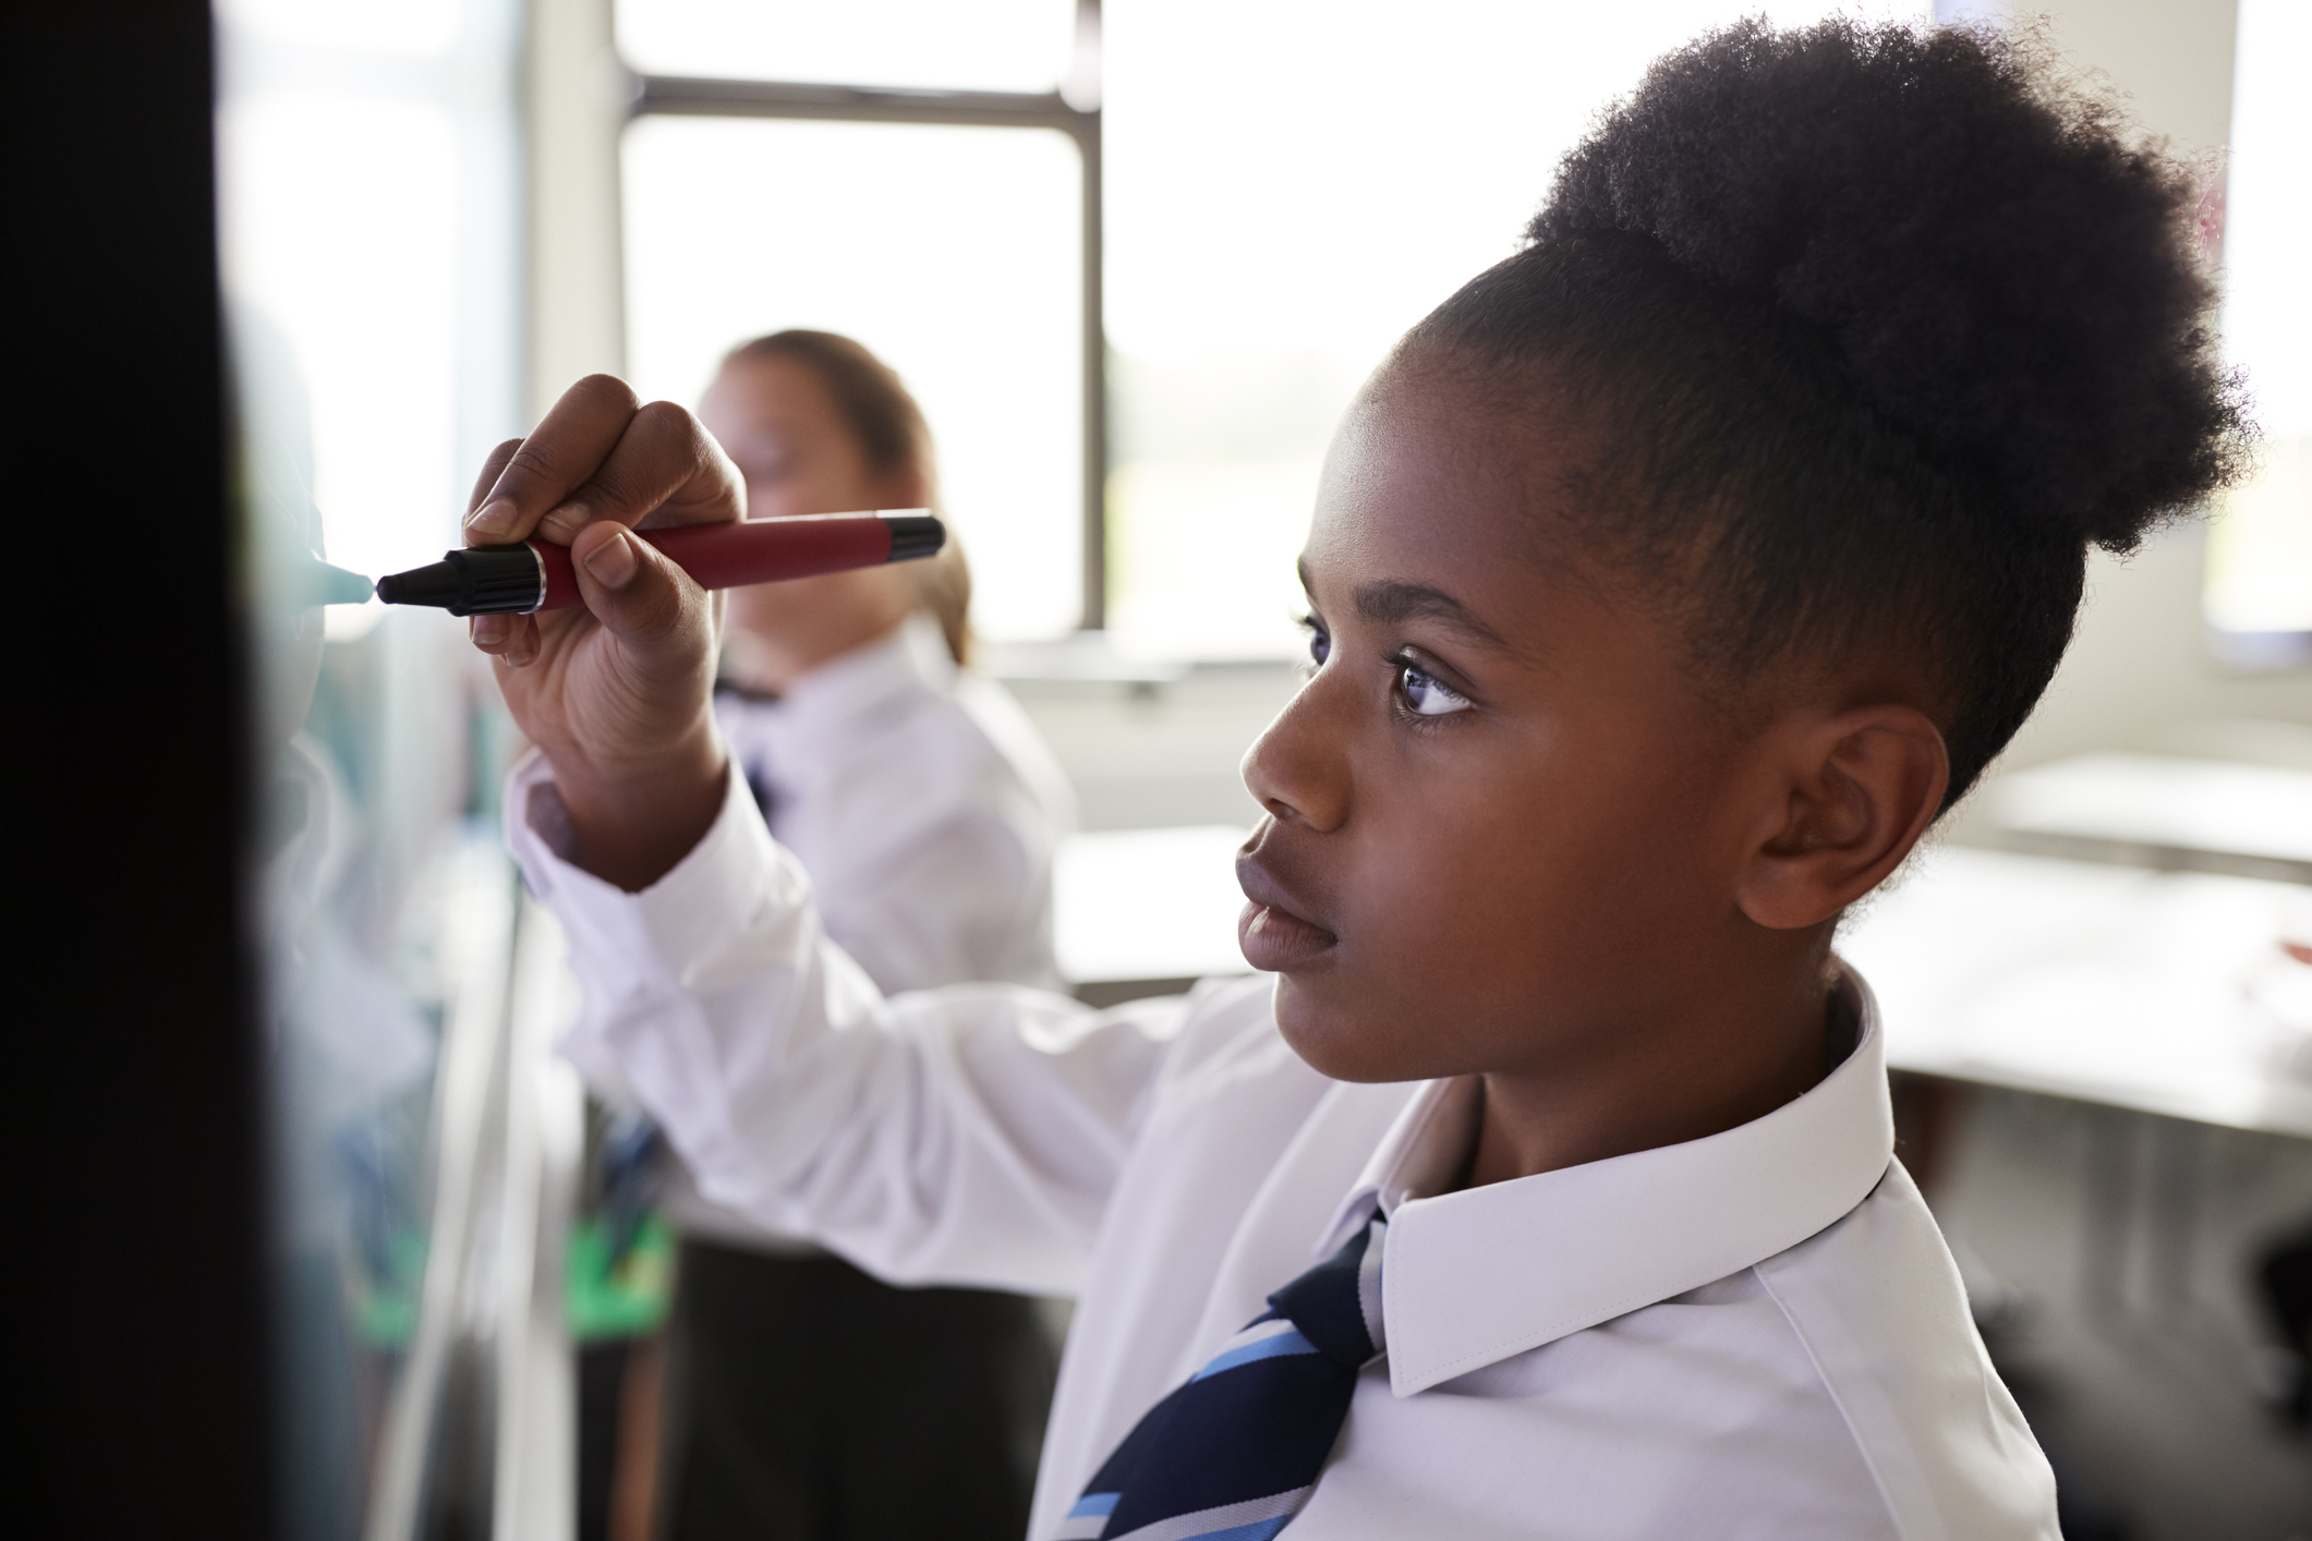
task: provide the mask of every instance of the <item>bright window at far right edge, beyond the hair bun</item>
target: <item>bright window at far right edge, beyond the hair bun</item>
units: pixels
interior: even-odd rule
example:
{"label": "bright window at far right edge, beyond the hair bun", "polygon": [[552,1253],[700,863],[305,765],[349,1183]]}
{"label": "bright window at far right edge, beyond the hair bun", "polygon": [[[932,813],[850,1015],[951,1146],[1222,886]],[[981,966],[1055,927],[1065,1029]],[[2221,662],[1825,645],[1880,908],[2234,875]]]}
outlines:
{"label": "bright window at far right edge, beyond the hair bun", "polygon": [[2224,178],[2224,349],[2245,365],[2263,467],[2224,494],[2208,624],[2245,663],[2312,656],[2312,7],[2240,0]]}

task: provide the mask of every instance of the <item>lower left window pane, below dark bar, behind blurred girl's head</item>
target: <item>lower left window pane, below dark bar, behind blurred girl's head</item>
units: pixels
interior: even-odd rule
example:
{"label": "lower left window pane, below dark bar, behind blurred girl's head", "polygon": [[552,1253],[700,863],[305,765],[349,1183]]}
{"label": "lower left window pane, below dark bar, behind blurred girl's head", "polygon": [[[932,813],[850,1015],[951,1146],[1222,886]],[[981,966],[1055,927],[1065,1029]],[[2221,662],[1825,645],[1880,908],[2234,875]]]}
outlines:
{"label": "lower left window pane, below dark bar, behind blurred girl's head", "polygon": [[809,326],[932,423],[973,626],[1082,610],[1082,164],[1047,129],[643,118],[627,132],[629,370],[696,402],[724,351]]}

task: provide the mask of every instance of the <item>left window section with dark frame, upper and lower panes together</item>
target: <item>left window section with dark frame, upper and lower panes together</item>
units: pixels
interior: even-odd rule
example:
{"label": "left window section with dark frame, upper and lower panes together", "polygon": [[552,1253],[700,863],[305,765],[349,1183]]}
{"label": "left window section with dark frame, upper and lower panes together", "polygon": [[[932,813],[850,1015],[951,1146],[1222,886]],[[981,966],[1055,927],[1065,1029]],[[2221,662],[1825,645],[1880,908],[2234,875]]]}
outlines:
{"label": "left window section with dark frame, upper and lower panes together", "polygon": [[[1098,7],[624,0],[629,372],[696,402],[726,349],[858,337],[916,393],[973,626],[1098,624]],[[705,76],[705,79],[701,79]]]}

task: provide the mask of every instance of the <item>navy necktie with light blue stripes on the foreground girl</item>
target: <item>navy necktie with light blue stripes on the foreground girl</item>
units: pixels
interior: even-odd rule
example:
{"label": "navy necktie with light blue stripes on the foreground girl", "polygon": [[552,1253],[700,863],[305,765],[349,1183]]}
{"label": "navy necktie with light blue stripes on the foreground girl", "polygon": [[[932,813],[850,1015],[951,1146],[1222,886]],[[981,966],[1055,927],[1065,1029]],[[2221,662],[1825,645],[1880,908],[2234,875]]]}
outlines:
{"label": "navy necktie with light blue stripes on the foreground girl", "polygon": [[1292,1523],[1341,1437],[1380,1333],[1376,1218],[1269,1296],[1269,1310],[1156,1402],[1052,1541],[1267,1541]]}

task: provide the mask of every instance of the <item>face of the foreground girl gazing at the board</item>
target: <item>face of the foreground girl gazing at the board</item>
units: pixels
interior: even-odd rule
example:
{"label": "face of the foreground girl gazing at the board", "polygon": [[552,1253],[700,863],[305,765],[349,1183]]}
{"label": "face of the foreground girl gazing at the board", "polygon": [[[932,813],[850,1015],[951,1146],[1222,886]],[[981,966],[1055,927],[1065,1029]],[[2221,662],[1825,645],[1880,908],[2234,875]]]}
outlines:
{"label": "face of the foreground girl gazing at the board", "polygon": [[[1244,760],[1239,933],[1350,1081],[1628,1054],[1757,926],[1748,746],[1679,638],[1561,554],[1547,446],[1452,393],[1350,411],[1302,559],[1309,675]],[[1748,783],[1746,783],[1748,776]]]}

